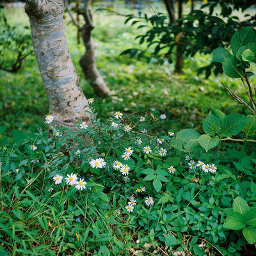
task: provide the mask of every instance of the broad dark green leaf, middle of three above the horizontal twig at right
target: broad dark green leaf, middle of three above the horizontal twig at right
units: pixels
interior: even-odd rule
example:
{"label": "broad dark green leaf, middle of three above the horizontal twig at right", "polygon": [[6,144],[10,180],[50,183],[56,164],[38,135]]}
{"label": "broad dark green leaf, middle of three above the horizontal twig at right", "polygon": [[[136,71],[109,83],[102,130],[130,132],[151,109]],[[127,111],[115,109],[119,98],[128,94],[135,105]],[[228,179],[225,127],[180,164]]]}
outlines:
{"label": "broad dark green leaf, middle of three above the horizontal twig at right", "polygon": [[232,113],[225,116],[223,123],[221,124],[221,138],[223,136],[230,137],[239,133],[246,123],[246,116]]}

